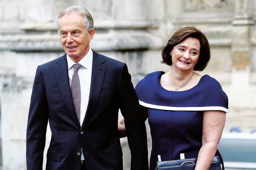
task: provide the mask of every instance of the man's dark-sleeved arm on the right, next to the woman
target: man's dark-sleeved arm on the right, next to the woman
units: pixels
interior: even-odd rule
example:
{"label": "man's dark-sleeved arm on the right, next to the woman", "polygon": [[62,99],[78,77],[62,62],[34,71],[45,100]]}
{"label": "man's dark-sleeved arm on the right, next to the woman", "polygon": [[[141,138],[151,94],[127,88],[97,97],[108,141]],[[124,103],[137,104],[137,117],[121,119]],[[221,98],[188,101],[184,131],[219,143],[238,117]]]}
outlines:
{"label": "man's dark-sleeved arm on the right, next to the woman", "polygon": [[148,170],[148,145],[144,117],[126,64],[119,80],[120,109],[131,151],[131,170]]}

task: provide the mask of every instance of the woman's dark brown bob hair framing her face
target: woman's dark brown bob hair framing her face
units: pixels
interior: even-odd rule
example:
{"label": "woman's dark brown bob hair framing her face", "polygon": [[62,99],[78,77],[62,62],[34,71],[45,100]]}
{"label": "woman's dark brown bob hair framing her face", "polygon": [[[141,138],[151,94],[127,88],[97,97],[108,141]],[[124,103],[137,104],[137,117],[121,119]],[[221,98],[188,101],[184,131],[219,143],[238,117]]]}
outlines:
{"label": "woman's dark brown bob hair framing her face", "polygon": [[182,27],[172,35],[171,39],[168,40],[168,43],[162,51],[163,60],[161,63],[171,66],[172,56],[170,56],[170,52],[175,45],[178,45],[188,37],[194,37],[200,41],[200,54],[198,57],[198,63],[194,66],[194,70],[204,70],[210,60],[210,46],[205,35],[196,27]]}

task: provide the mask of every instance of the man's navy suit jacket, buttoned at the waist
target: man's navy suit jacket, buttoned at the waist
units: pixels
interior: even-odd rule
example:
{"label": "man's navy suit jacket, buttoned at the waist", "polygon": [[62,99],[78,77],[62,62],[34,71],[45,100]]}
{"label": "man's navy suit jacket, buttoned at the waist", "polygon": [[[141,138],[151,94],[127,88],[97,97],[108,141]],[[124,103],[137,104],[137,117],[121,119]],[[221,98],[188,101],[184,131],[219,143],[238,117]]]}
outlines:
{"label": "man's navy suit jacket, buttoned at the waist", "polygon": [[42,170],[46,127],[52,132],[47,170],[122,170],[118,110],[125,119],[131,170],[148,170],[145,123],[126,64],[93,52],[89,103],[82,127],[76,117],[66,54],[38,66],[26,135],[27,170]]}

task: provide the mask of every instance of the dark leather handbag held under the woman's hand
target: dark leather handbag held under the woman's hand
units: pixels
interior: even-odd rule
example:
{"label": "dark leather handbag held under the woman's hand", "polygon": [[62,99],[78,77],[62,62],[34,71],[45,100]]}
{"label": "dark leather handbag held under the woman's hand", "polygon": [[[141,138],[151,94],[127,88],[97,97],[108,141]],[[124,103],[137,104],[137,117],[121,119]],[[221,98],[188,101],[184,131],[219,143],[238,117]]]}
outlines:
{"label": "dark leather handbag held under the woman's hand", "polygon": [[[155,170],[194,170],[196,167],[196,159],[179,159],[156,162]],[[222,170],[219,156],[214,156],[209,170]]]}

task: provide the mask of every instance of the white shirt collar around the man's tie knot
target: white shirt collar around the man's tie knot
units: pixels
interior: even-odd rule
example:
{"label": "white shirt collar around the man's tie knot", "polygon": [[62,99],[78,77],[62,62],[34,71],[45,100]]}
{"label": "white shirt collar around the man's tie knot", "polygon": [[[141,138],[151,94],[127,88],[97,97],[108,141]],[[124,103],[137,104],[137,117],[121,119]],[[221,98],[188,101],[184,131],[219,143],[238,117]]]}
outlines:
{"label": "white shirt collar around the man's tie knot", "polygon": [[[68,70],[76,64],[68,55],[66,55],[68,61]],[[86,69],[92,68],[92,49],[90,48],[88,53],[78,62]]]}

